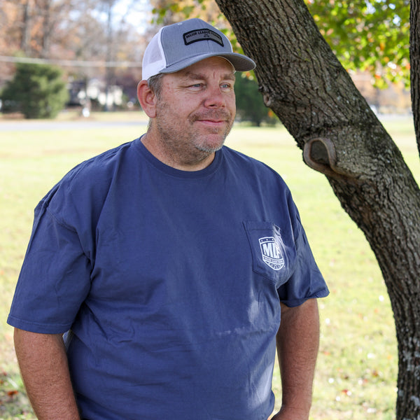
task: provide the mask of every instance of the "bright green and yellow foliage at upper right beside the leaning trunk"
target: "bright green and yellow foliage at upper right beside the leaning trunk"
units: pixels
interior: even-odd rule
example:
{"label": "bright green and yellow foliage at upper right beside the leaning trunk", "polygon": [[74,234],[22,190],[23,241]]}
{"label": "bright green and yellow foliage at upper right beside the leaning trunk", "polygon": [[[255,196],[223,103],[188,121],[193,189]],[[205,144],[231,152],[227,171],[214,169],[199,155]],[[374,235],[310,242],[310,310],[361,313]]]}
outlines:
{"label": "bright green and yellow foliage at upper right beside the leaning trunk", "polygon": [[409,0],[304,0],[347,71],[369,71],[378,87],[409,85]]}

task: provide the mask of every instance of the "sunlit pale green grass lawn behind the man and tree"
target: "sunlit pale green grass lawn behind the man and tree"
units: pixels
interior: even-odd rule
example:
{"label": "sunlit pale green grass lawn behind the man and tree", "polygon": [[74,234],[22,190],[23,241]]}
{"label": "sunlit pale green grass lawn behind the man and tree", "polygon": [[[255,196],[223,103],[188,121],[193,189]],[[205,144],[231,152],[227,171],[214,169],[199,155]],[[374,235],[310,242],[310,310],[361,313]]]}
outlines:
{"label": "sunlit pale green grass lawn behind the man and tree", "polygon": [[[62,118],[71,120],[69,115]],[[139,113],[92,118],[144,119]],[[384,125],[420,180],[412,120],[391,120]],[[34,419],[15,360],[13,329],[6,324],[33,209],[78,162],[139,137],[144,130],[144,126],[128,125],[86,131],[0,132],[0,419]],[[304,165],[302,153],[283,127],[237,126],[227,145],[266,162],[286,180],[330,287],[330,296],[319,302],[321,348],[311,419],[395,419],[398,357],[393,316],[362,232],[342,210],[325,177]],[[277,371],[273,387],[279,395]]]}

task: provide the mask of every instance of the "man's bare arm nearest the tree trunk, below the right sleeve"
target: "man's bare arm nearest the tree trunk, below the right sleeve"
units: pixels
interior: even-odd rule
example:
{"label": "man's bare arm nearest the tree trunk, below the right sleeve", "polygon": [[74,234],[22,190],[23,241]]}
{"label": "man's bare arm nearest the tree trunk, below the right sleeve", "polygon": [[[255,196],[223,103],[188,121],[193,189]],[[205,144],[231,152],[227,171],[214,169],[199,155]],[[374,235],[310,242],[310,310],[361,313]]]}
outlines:
{"label": "man's bare arm nearest the tree trunk, below the right sleeve", "polygon": [[280,412],[272,420],[308,420],[319,346],[316,299],[298,307],[281,304],[276,343],[283,399]]}

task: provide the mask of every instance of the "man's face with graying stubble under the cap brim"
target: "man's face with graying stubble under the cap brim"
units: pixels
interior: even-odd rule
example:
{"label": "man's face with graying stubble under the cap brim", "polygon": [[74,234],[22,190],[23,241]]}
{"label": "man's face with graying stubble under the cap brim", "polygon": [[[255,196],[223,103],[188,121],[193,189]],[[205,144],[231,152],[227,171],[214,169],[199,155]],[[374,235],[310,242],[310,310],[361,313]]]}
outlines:
{"label": "man's face with graying stubble under the cap brim", "polygon": [[234,72],[211,57],[163,76],[153,124],[166,153],[199,162],[223,146],[235,119]]}

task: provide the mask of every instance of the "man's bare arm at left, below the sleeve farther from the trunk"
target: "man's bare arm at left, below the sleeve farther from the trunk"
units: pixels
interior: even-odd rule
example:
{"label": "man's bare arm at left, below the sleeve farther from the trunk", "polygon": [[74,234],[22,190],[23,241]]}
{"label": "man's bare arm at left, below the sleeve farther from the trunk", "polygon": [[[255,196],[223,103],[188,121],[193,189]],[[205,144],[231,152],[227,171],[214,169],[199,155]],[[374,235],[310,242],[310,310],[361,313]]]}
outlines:
{"label": "man's bare arm at left, below the sleeve farther from the trunk", "polygon": [[62,335],[15,328],[15,351],[38,419],[79,420]]}

